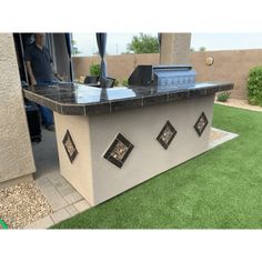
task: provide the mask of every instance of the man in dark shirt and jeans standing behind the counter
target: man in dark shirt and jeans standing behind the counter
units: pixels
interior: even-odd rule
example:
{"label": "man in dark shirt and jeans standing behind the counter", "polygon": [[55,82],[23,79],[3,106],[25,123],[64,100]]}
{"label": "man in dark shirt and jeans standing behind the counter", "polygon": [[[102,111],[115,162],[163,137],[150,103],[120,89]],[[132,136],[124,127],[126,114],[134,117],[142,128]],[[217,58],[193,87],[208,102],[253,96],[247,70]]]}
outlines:
{"label": "man in dark shirt and jeans standing behind the counter", "polygon": [[[57,79],[62,81],[52,68],[50,52],[44,47],[44,33],[36,33],[34,39],[36,41],[26,50],[26,64],[31,85],[47,87],[57,82]],[[54,130],[53,112],[43,105],[39,107],[43,125],[50,131]]]}

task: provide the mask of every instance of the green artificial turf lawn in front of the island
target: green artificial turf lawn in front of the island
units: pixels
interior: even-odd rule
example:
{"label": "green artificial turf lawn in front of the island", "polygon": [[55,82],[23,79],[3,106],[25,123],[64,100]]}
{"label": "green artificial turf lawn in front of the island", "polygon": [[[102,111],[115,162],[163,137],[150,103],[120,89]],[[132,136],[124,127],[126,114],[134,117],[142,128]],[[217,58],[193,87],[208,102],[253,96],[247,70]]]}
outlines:
{"label": "green artificial turf lawn in front of the island", "polygon": [[240,134],[54,229],[261,229],[262,113],[214,105]]}

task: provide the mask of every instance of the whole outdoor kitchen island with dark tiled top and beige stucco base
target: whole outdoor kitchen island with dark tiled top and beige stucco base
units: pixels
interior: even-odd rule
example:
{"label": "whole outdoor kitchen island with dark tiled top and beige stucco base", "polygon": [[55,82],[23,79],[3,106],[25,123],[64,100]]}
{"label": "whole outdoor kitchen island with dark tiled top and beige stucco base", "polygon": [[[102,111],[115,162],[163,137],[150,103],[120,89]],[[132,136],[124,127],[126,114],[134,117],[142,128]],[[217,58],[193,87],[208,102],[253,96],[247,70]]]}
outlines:
{"label": "whole outdoor kitchen island with dark tiled top and beige stucco base", "polygon": [[208,150],[214,94],[233,83],[29,87],[54,112],[61,174],[97,205]]}

